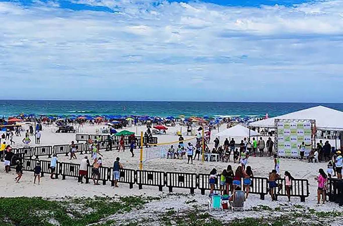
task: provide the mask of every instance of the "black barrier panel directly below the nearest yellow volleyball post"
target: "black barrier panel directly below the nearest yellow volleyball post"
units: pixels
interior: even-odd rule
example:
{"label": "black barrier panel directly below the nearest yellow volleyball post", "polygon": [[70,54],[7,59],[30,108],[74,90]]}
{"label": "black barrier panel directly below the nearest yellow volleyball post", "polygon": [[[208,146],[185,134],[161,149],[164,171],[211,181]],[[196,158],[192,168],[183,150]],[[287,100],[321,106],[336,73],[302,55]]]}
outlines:
{"label": "black barrier panel directly below the nearest yellow volleyball post", "polygon": [[162,191],[165,186],[165,173],[161,171],[146,171],[138,170],[137,171],[137,180],[138,189],[142,189],[143,185],[149,186],[158,186],[158,190]]}

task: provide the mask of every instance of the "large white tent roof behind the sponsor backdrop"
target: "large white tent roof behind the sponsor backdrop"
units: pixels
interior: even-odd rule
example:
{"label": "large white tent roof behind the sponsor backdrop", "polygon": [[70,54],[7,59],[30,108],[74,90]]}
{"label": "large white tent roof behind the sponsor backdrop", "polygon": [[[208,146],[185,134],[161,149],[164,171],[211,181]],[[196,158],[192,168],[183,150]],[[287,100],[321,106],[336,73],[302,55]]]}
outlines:
{"label": "large white tent roof behind the sponsor backdrop", "polygon": [[343,130],[343,112],[337,111],[324,106],[316,106],[289,114],[268,118],[261,121],[252,122],[249,126],[274,128],[275,119],[304,119],[316,120],[316,127],[318,130]]}

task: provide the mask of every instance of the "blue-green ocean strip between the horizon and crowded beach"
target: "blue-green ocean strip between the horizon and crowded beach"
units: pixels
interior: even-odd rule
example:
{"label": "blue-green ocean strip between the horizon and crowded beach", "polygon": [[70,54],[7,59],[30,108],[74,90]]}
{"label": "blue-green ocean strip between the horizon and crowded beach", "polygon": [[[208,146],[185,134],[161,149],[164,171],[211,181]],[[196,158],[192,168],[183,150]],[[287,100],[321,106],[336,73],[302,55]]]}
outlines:
{"label": "blue-green ocean strip between the horizon and crowded beach", "polygon": [[318,105],[343,111],[343,103],[172,102],[0,100],[0,116],[149,115],[149,116],[278,116]]}

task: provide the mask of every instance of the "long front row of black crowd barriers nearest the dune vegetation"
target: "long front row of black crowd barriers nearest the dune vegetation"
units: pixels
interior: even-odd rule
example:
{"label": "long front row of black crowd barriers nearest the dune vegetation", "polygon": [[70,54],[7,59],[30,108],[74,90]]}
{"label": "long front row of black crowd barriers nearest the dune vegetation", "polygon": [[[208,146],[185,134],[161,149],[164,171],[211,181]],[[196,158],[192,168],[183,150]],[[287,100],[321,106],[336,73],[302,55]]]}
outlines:
{"label": "long front row of black crowd barriers nearest the dune vegetation", "polygon": [[[60,146],[58,146],[60,147]],[[25,159],[22,158],[23,171],[33,172],[38,162],[42,167],[42,176],[44,173],[50,174],[50,161],[43,161],[37,159]],[[11,165],[15,168],[15,165]],[[57,162],[55,170],[56,177],[62,176],[62,180],[66,177],[76,177],[80,181],[80,164]],[[86,183],[89,183],[89,179],[92,178],[92,166],[87,167],[88,174],[86,176]],[[111,186],[114,186],[113,168],[111,167],[99,167],[99,180],[103,181],[103,185],[106,185],[107,181],[111,182]],[[131,170],[121,169],[120,170],[120,183],[126,183],[133,188],[134,184],[138,185],[139,189],[144,186],[156,186],[159,191],[163,190],[163,187],[168,187],[169,192],[173,192],[173,188],[185,188],[190,189],[190,193],[194,193],[195,189],[200,189],[201,194],[205,194],[205,190],[210,190],[209,174],[195,174],[195,173],[179,173],[179,172],[162,172],[162,171],[149,171],[149,170]],[[259,194],[261,199],[268,194],[268,179],[263,177],[252,177],[251,185],[249,188],[250,194]],[[220,188],[220,175],[215,178],[215,190]],[[276,183],[279,183],[280,191],[276,191],[275,198],[278,196],[287,196],[285,190],[285,180],[278,179]],[[243,189],[243,178],[241,178],[241,188]],[[329,187],[327,195],[330,201],[339,202],[343,204],[343,181],[337,179],[329,179]],[[293,179],[291,197],[300,197],[300,201],[304,202],[305,198],[309,196],[308,180],[306,179]]]}

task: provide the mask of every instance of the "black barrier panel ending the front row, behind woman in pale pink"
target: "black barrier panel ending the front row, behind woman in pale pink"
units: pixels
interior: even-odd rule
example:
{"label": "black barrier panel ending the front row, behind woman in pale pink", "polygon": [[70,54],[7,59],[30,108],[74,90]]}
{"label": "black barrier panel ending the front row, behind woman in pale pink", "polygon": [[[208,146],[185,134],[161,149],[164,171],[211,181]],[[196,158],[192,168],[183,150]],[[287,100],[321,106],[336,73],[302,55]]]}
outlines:
{"label": "black barrier panel ending the front row, behind woman in pale pink", "polygon": [[[275,199],[277,200],[278,196],[287,196],[285,189],[285,179],[277,179],[276,183],[281,185],[281,190],[276,191],[277,188],[274,188]],[[301,202],[305,202],[305,198],[309,196],[308,190],[308,180],[306,179],[293,179],[291,186],[291,197],[300,197]]]}

